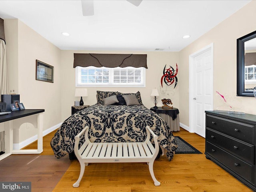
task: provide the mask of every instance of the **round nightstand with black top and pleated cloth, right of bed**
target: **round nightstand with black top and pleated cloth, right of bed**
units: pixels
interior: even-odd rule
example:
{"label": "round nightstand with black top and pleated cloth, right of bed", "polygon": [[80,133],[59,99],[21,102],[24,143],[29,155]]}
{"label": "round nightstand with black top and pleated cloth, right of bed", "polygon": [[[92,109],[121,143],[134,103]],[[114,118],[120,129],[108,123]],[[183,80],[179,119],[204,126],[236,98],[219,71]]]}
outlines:
{"label": "round nightstand with black top and pleated cloth, right of bed", "polygon": [[156,112],[160,117],[162,117],[167,122],[171,131],[180,130],[179,110],[177,108],[162,109],[162,107],[158,107],[154,109],[154,107],[152,107],[150,110]]}

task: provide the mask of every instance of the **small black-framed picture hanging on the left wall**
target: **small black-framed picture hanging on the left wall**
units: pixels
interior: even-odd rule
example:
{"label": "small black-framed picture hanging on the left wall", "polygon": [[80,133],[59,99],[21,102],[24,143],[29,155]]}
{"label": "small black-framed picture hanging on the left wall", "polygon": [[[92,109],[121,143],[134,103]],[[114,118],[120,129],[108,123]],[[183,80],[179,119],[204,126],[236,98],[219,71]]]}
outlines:
{"label": "small black-framed picture hanging on the left wall", "polygon": [[36,80],[53,83],[54,67],[36,60]]}

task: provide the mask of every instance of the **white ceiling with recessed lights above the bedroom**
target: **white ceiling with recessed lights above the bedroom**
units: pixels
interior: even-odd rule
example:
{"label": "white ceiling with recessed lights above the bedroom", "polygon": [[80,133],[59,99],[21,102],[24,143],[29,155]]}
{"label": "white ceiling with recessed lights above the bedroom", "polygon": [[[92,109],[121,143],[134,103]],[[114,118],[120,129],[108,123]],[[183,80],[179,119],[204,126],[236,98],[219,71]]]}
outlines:
{"label": "white ceiling with recessed lights above the bedroom", "polygon": [[94,0],[94,16],[83,16],[80,0],[0,0],[0,18],[18,18],[61,50],[180,51],[248,2]]}

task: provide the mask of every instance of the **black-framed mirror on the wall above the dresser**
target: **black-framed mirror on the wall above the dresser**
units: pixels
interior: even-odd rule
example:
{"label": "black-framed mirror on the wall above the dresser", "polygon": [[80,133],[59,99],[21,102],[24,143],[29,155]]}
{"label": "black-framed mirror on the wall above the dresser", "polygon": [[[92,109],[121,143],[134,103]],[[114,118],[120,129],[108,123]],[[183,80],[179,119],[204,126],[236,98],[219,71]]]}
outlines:
{"label": "black-framed mirror on the wall above the dresser", "polygon": [[256,87],[256,31],[237,39],[237,96],[254,96]]}

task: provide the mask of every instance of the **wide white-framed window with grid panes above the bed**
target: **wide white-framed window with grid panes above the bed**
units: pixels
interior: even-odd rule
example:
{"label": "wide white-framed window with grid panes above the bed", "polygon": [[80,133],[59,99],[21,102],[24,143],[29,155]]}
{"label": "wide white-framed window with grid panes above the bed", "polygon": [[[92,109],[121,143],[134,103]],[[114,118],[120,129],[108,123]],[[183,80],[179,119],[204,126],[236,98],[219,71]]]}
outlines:
{"label": "wide white-framed window with grid panes above the bed", "polygon": [[76,86],[145,87],[144,67],[76,67]]}

